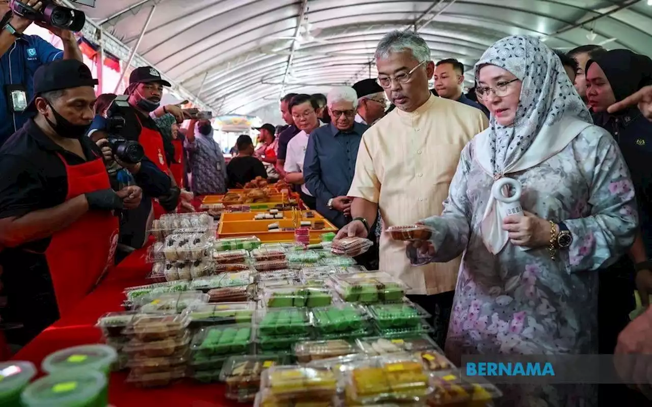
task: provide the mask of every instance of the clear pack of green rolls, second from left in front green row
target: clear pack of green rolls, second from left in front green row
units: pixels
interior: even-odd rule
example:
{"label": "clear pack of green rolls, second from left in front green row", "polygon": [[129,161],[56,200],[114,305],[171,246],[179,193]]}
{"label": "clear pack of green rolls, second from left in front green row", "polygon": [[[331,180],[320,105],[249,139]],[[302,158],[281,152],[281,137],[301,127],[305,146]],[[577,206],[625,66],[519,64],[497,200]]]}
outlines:
{"label": "clear pack of green rolls, second from left in front green row", "polygon": [[306,335],[310,316],[304,308],[267,308],[256,312],[259,335]]}

